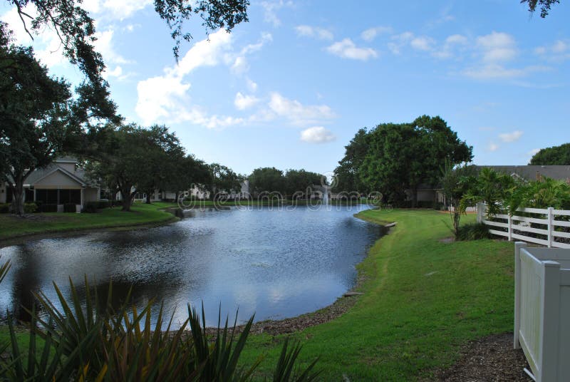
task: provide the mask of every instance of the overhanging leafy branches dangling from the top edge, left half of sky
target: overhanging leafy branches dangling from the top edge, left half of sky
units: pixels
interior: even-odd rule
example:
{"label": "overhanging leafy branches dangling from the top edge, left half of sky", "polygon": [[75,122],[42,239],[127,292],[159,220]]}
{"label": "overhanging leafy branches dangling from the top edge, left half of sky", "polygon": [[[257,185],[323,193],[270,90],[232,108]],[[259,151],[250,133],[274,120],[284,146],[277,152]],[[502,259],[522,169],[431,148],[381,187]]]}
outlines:
{"label": "overhanging leafy branches dangling from the top edge, left half of sky", "polygon": [[[102,73],[105,69],[103,58],[93,47],[95,41],[95,21],[88,11],[82,8],[82,0],[8,0],[16,6],[24,28],[33,38],[46,26],[58,34],[63,54],[86,74],[95,88],[106,88]],[[192,15],[202,19],[207,33],[218,28],[231,31],[237,24],[248,21],[249,0],[155,0],[155,11],[169,26],[175,41],[173,48],[178,58],[180,42],[190,41],[192,35],[184,29],[185,21]],[[26,6],[33,5],[35,14],[26,12]]]}

